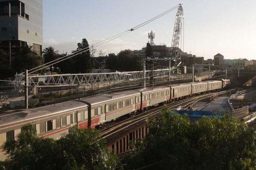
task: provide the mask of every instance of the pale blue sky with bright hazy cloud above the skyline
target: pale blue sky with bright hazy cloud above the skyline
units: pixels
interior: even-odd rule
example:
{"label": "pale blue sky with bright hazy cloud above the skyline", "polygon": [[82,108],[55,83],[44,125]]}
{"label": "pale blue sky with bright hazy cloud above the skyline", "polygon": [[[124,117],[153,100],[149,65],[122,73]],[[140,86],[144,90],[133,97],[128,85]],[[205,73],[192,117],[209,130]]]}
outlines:
{"label": "pale blue sky with bright hazy cloud above the skyline", "polygon": [[[182,50],[204,59],[256,60],[256,0],[43,0],[43,48],[70,53],[86,38],[89,45],[142,24],[183,4]],[[177,9],[96,48],[105,55],[140,50],[155,33],[155,44],[171,46]],[[183,35],[182,35],[183,36]],[[183,38],[182,38],[183,39]]]}

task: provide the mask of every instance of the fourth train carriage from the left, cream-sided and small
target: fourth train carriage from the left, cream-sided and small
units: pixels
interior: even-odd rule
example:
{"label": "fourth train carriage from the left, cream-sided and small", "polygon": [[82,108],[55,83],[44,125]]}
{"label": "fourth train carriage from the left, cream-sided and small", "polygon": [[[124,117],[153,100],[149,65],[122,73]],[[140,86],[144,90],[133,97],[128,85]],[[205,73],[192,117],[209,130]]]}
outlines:
{"label": "fourth train carriage from the left, cream-sided and small", "polygon": [[171,88],[171,100],[191,95],[191,84],[169,84]]}

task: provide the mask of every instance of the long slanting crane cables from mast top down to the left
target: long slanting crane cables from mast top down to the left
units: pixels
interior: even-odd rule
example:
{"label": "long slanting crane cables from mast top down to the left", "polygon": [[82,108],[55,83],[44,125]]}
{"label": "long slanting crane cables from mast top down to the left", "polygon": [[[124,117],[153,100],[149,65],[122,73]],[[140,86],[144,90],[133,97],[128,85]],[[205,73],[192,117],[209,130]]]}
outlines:
{"label": "long slanting crane cables from mast top down to the left", "polygon": [[[98,47],[99,45],[105,44],[106,42],[112,41],[112,40],[114,40],[114,39],[116,39],[116,38],[118,38],[118,37],[120,37],[120,36],[124,36],[126,33],[130,33],[130,32],[132,32],[133,30],[137,30],[137,29],[139,29],[140,27],[143,27],[143,26],[145,26],[146,24],[149,24],[150,22],[156,20],[157,18],[160,18],[160,17],[162,17],[163,15],[166,15],[167,13],[173,11],[173,10],[176,9],[178,6],[179,6],[179,5],[177,5],[177,6],[173,7],[173,8],[171,8],[171,9],[169,9],[169,10],[163,12],[163,13],[161,13],[160,15],[157,15],[157,16],[154,17],[154,18],[149,19],[148,21],[143,22],[142,24],[137,25],[136,27],[133,27],[133,28],[130,29],[130,30],[126,30],[126,31],[124,31],[124,32],[122,32],[122,33],[119,33],[119,34],[115,35],[115,36],[111,36],[111,37],[108,38],[108,39],[102,40],[101,42],[97,42],[97,43],[95,43],[94,45],[91,45],[90,47],[95,46],[95,45],[97,45],[96,47]],[[130,32],[129,32],[129,31],[130,31]],[[50,65],[59,63],[60,61],[66,60],[66,59],[68,59],[68,58],[70,58],[70,57],[74,57],[74,56],[76,56],[76,55],[78,55],[78,54],[81,54],[81,53],[83,53],[83,52],[85,52],[85,51],[88,51],[88,50],[89,50],[89,47],[83,48],[83,49],[81,49],[81,50],[79,50],[79,51],[75,51],[74,53],[76,53],[76,54],[74,54],[74,53],[73,53],[73,54],[69,54],[69,55],[67,55],[67,56],[64,56],[64,57],[61,57],[61,58],[59,58],[59,59],[53,60],[53,61],[51,61],[51,62],[49,62],[49,63],[43,64],[43,65],[38,66],[38,67],[35,67],[35,68],[33,68],[33,69],[30,69],[30,70],[28,70],[28,72],[29,72],[29,74],[34,73],[34,72],[37,72],[37,71],[40,70],[40,69],[44,69],[44,68],[46,68],[46,67],[48,67],[48,66],[50,66]],[[61,59],[62,59],[62,60],[61,60]],[[58,60],[60,60],[60,61],[58,61]],[[58,62],[55,62],[55,61],[58,61]],[[53,62],[55,62],[55,63],[53,63]],[[46,65],[47,65],[47,66],[46,66]],[[42,66],[44,66],[44,67],[42,67]],[[40,67],[42,67],[42,68],[40,68]],[[40,69],[38,69],[38,68],[40,68]],[[35,69],[37,69],[37,70],[35,70]],[[35,71],[33,71],[33,70],[35,70]],[[33,72],[31,72],[31,71],[33,71]]]}

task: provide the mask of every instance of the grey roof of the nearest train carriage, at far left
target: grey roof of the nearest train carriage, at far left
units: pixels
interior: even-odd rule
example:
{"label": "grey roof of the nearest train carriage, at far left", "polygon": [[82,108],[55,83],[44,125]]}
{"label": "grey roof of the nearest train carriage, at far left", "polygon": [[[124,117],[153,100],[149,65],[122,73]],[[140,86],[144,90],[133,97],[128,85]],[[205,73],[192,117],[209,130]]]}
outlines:
{"label": "grey roof of the nearest train carriage, at far left", "polygon": [[2,112],[0,113],[0,128],[3,128],[8,124],[19,123],[26,120],[32,121],[36,118],[53,115],[63,111],[72,111],[87,106],[87,104],[80,101],[67,101],[64,103],[58,103],[34,109]]}

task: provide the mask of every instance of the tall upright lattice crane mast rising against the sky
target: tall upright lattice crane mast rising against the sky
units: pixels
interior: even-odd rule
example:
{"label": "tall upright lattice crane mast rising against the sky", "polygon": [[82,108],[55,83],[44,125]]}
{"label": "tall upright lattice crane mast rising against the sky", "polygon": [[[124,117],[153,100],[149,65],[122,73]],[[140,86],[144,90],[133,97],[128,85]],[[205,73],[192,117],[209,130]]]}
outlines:
{"label": "tall upright lattice crane mast rising against the sky", "polygon": [[178,56],[179,49],[179,40],[182,33],[182,20],[183,20],[183,8],[182,4],[179,4],[179,8],[175,18],[175,24],[173,29],[173,40],[171,45],[171,58],[174,59],[174,66],[178,66],[181,62],[180,57]]}

